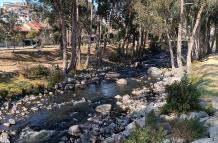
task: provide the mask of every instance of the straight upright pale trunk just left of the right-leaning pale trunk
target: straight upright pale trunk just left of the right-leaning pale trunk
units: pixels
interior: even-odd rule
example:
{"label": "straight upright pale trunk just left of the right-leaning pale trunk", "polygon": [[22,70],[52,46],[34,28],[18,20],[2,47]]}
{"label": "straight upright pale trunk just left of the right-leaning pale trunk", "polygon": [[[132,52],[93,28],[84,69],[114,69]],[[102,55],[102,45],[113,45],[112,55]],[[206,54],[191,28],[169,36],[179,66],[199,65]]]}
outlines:
{"label": "straight upright pale trunk just left of the right-leaning pale trunk", "polygon": [[182,29],[184,23],[184,0],[180,0],[180,21],[178,28],[178,40],[177,40],[177,64],[179,70],[182,70]]}

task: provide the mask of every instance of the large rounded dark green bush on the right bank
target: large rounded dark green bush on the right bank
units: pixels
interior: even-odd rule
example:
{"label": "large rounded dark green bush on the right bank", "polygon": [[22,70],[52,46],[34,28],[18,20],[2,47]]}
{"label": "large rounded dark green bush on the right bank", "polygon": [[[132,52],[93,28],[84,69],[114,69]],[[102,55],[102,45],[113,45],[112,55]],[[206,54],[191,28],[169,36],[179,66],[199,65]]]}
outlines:
{"label": "large rounded dark green bush on the right bank", "polygon": [[164,113],[184,113],[200,108],[197,104],[200,92],[189,79],[185,78],[181,82],[175,82],[166,87],[166,91],[168,96],[167,103],[162,109]]}

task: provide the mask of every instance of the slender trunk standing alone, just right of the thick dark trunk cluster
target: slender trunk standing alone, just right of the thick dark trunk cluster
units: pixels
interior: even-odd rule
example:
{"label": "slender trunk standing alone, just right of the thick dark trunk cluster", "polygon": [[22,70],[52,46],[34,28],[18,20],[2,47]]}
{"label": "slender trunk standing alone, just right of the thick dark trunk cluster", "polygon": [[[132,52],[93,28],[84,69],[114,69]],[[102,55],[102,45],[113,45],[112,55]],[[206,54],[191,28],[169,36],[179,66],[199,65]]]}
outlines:
{"label": "slender trunk standing alone, just right of the thick dark trunk cluster", "polygon": [[90,13],[90,32],[89,32],[89,45],[88,45],[88,53],[86,59],[86,67],[89,66],[90,63],[90,53],[91,53],[91,46],[92,46],[92,25],[93,25],[93,0],[91,4],[91,13]]}

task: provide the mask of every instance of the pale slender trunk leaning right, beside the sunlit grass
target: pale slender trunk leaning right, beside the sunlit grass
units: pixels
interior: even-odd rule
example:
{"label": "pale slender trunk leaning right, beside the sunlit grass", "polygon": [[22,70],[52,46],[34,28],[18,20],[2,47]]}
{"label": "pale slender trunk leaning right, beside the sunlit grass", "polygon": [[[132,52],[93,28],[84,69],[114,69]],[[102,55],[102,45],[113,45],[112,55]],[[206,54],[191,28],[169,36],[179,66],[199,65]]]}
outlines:
{"label": "pale slender trunk leaning right, beside the sunlit grass", "polygon": [[197,18],[196,18],[196,22],[195,22],[194,28],[193,28],[193,30],[191,32],[191,36],[189,37],[188,53],[187,53],[187,59],[186,59],[186,62],[187,62],[187,69],[186,69],[187,73],[189,73],[190,70],[191,70],[192,49],[193,49],[193,46],[194,46],[196,31],[197,31],[197,29],[199,28],[199,25],[200,25],[201,15],[202,15],[203,9],[204,9],[204,6],[202,5],[200,7],[199,11],[198,11],[198,15],[197,15]]}

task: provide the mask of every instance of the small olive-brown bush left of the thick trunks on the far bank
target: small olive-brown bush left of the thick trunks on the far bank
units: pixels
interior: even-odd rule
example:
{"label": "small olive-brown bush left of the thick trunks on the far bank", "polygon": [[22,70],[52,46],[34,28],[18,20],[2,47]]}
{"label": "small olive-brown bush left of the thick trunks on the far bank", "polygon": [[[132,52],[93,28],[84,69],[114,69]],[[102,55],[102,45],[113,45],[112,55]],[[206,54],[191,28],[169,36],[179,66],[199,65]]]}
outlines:
{"label": "small olive-brown bush left of the thick trunks on the far bank", "polygon": [[64,73],[58,66],[53,66],[48,76],[48,87],[54,87],[55,84],[64,80]]}

